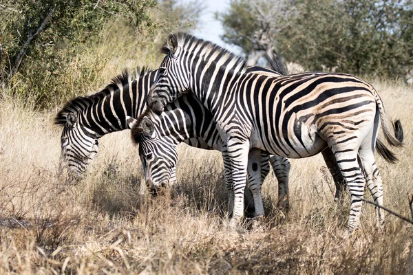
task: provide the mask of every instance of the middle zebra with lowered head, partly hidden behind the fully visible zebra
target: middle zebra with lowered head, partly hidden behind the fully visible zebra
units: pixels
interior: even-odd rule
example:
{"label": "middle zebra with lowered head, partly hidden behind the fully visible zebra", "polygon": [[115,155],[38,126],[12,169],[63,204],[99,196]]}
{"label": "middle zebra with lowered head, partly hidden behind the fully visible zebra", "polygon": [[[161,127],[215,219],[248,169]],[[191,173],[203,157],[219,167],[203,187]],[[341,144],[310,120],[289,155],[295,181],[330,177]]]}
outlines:
{"label": "middle zebra with lowered head, partly hidden behind the fully visible zebra", "polygon": [[[261,67],[248,68],[247,72],[272,76],[280,76],[278,72],[283,75],[287,74],[284,65],[277,56],[267,55],[266,60],[270,63],[271,69],[274,69],[274,72],[264,71]],[[148,109],[138,120],[131,123],[130,127],[132,130],[132,140],[139,145],[139,155],[145,170],[147,186],[150,186],[153,193],[157,192],[156,188],[169,185],[169,175],[171,175],[171,170],[175,168],[178,160],[176,146],[183,141],[191,142],[193,137],[196,136],[201,138],[195,140],[195,142],[200,142],[200,140],[207,142],[207,144],[202,145],[202,148],[214,148],[222,151],[224,167],[226,168],[225,175],[227,178],[230,178],[226,180],[226,188],[229,191],[229,200],[231,202],[231,195],[233,194],[231,190],[231,174],[227,174],[231,173],[231,163],[228,159],[225,143],[216,129],[211,113],[205,109],[203,104],[193,94],[185,94],[171,104],[168,104],[167,112],[162,113],[162,115],[156,115]],[[195,147],[199,148],[201,146],[198,144]],[[337,164],[332,162],[331,159],[334,159],[334,157],[332,157],[330,151],[324,151],[323,155],[336,184],[335,199],[337,200],[340,197],[339,192],[343,188],[343,179],[341,174],[335,173]],[[262,181],[269,173],[268,155],[261,153],[261,158],[261,166],[249,158],[247,168],[248,187],[253,194],[255,216],[264,215],[261,186]],[[290,162],[285,157],[277,155],[271,155],[269,161],[273,169],[277,169],[275,170],[279,183],[277,206],[288,211],[288,172],[290,170]],[[258,170],[259,168],[261,168],[261,173]]]}

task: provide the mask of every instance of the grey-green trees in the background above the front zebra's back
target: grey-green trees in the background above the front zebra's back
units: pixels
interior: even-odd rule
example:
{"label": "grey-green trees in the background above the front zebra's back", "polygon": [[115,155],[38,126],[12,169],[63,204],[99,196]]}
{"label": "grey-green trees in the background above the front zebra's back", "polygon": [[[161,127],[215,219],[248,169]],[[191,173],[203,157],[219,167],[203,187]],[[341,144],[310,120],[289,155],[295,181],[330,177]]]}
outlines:
{"label": "grey-green trees in the background above the front zebra's back", "polygon": [[234,0],[218,14],[223,39],[247,57],[276,50],[308,70],[390,78],[413,65],[412,17],[411,0]]}

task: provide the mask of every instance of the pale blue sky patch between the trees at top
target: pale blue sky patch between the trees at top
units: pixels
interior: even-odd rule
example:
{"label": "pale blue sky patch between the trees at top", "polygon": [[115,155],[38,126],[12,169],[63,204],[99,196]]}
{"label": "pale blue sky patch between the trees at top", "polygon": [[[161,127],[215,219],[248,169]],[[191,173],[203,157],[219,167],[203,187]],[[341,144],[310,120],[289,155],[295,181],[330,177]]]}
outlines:
{"label": "pale blue sky patch between the trees at top", "polygon": [[[180,3],[188,2],[188,0],[180,0]],[[224,29],[220,21],[215,19],[215,12],[222,12],[228,10],[229,0],[204,0],[205,10],[202,12],[198,28],[193,30],[191,34],[200,39],[211,41],[218,44],[226,49],[234,52],[235,54],[240,54],[238,47],[228,45],[220,39],[220,35],[224,34]]]}

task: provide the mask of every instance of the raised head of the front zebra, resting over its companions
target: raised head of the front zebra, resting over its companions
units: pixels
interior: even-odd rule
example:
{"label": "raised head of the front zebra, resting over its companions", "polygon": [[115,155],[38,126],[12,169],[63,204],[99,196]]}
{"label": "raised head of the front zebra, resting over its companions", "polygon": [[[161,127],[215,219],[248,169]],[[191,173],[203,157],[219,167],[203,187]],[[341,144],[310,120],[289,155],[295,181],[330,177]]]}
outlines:
{"label": "raised head of the front zebra, resting over its companions", "polygon": [[[180,36],[178,36],[180,37]],[[180,37],[182,39],[182,37]],[[169,34],[167,43],[162,47],[166,54],[158,69],[158,77],[147,97],[147,105],[161,113],[165,106],[189,90],[189,74],[184,70],[184,50],[175,34]]]}

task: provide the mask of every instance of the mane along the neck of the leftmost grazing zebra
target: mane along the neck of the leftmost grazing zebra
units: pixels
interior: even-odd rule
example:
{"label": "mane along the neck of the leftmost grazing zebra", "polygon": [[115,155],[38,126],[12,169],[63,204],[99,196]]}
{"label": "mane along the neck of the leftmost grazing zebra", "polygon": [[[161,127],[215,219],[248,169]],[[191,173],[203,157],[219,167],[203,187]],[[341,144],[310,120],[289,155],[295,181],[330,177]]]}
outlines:
{"label": "mane along the neck of the leftmost grazing zebra", "polygon": [[54,117],[54,124],[64,125],[66,124],[66,118],[69,113],[79,113],[87,108],[92,102],[96,100],[102,100],[105,96],[109,95],[111,91],[116,91],[121,87],[128,85],[129,81],[134,81],[142,76],[145,76],[151,69],[148,67],[136,67],[132,72],[130,69],[123,69],[122,73],[112,78],[111,83],[104,89],[98,91],[96,94],[90,96],[78,96],[68,102]]}

